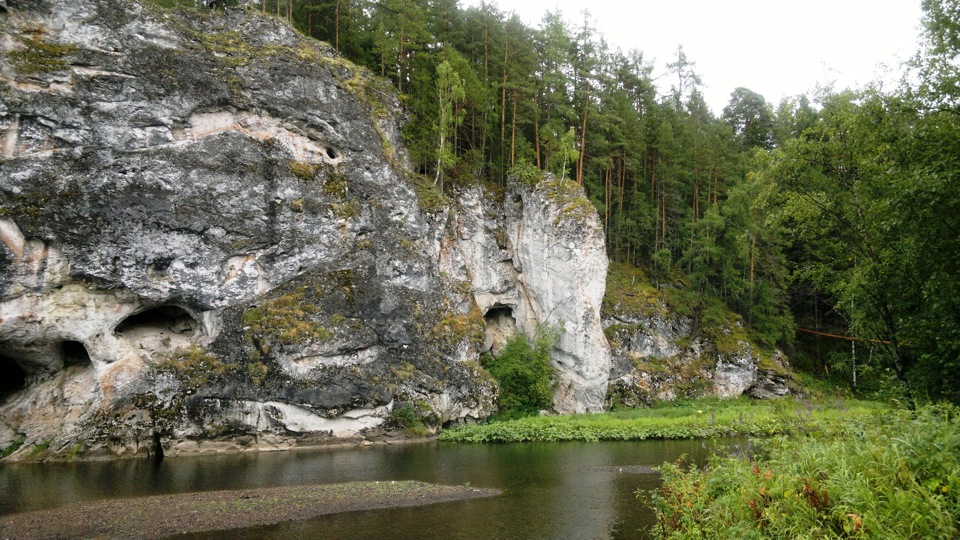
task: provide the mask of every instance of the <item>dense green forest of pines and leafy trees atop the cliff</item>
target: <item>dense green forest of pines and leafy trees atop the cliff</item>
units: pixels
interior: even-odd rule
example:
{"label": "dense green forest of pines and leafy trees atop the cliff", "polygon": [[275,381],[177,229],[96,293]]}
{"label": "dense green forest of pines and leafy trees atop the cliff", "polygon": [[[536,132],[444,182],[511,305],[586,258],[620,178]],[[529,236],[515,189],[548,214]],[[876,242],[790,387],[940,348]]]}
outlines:
{"label": "dense green forest of pines and leafy trees atop the cliff", "polygon": [[729,306],[795,365],[960,400],[960,1],[923,1],[896,88],[776,106],[738,88],[719,117],[682,47],[659,95],[643,53],[612,47],[585,13],[530,27],[457,0],[248,4],[392,81],[435,189],[569,179],[610,259],[674,286],[695,324]]}

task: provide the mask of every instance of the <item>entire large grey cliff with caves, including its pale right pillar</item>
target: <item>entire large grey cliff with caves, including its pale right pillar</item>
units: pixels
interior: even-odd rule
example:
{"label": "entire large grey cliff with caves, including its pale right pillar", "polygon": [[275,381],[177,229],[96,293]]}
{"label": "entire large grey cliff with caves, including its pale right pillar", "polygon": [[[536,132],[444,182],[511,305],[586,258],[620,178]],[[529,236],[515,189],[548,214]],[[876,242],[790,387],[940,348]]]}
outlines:
{"label": "entire large grey cliff with caves, including its pale right pillar", "polygon": [[570,182],[424,212],[394,91],[255,12],[6,0],[0,31],[6,459],[478,421],[479,354],[544,322],[555,409],[603,408],[607,259]]}

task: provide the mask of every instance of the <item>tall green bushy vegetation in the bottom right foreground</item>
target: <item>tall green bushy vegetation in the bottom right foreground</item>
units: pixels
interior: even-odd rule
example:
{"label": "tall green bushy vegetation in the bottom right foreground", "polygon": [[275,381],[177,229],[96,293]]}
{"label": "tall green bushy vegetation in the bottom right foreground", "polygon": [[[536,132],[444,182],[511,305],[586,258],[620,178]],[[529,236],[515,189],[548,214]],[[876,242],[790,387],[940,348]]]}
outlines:
{"label": "tall green bushy vegetation in the bottom right foreground", "polygon": [[[666,465],[659,538],[957,538],[960,409],[843,419],[767,441],[755,460]],[[765,457],[763,457],[765,456]]]}

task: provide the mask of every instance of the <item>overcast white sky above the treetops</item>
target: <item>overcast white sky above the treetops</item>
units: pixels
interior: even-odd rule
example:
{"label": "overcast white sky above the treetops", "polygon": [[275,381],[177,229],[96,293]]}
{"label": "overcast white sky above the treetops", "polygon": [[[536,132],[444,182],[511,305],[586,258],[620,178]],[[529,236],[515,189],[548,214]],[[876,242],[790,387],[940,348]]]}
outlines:
{"label": "overcast white sky above the treetops", "polygon": [[[463,7],[481,0],[461,0]],[[560,10],[573,25],[589,10],[612,46],[637,49],[655,60],[654,76],[683,45],[705,85],[707,103],[720,114],[738,86],[774,107],[785,96],[817,84],[861,86],[885,64],[895,74],[917,49],[920,0],[487,0],[539,27]],[[658,81],[669,89],[672,79]],[[674,83],[675,84],[675,83]]]}

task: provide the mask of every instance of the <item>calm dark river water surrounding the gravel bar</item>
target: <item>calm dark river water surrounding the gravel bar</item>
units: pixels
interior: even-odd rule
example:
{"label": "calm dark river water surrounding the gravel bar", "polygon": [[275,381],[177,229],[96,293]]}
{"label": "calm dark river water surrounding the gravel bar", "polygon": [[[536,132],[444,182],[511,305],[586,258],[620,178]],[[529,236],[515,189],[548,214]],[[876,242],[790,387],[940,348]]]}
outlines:
{"label": "calm dark river water surrounding the gravel bar", "polygon": [[[709,446],[709,445],[706,445]],[[422,480],[491,487],[500,497],[419,508],[324,516],[178,538],[626,539],[647,538],[653,519],[636,491],[682,454],[701,461],[701,441],[456,445],[425,443],[340,450],[147,460],[0,465],[0,513],[89,499],[355,480]]]}

